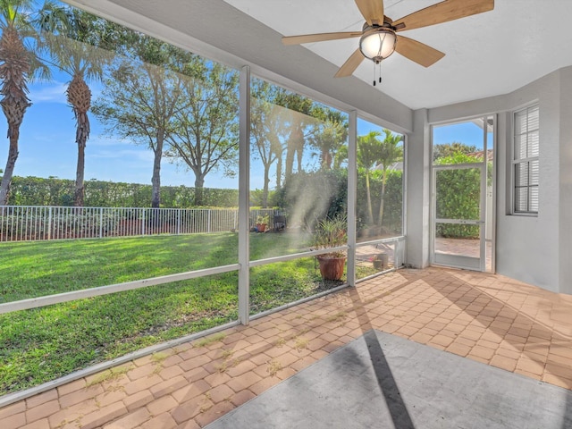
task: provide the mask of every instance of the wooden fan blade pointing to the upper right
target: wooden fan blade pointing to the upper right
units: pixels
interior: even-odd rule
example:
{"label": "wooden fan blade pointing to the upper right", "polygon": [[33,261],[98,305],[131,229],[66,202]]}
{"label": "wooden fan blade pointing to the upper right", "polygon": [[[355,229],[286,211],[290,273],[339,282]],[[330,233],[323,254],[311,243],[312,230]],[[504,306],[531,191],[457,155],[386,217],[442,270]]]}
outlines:
{"label": "wooden fan blade pointing to the upper right", "polygon": [[494,0],[445,0],[391,22],[397,31],[419,29],[494,9]]}

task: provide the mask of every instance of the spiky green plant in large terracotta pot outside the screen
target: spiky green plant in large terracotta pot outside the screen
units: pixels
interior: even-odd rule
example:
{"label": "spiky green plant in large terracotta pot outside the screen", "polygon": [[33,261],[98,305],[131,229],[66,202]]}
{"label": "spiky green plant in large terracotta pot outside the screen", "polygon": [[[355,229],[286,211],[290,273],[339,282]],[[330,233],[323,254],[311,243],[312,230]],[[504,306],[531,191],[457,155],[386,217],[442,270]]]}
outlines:
{"label": "spiky green plant in large terracotta pot outside the screen", "polygon": [[[345,216],[326,217],[319,221],[312,234],[312,249],[337,248],[348,242],[348,222]],[[324,280],[339,281],[346,264],[346,251],[334,250],[315,257]]]}

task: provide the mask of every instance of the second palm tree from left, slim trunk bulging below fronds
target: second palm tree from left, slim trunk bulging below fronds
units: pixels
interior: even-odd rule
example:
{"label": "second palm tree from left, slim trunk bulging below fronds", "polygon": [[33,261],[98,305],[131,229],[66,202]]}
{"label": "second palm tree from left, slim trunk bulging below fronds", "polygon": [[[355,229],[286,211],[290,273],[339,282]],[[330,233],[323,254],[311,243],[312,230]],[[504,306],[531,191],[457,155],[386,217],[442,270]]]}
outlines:
{"label": "second palm tree from left, slim trunk bulging below fronds", "polygon": [[83,206],[85,148],[89,138],[88,110],[91,106],[89,80],[102,80],[104,67],[113,53],[99,49],[103,21],[79,9],[47,2],[39,12],[38,25],[45,31],[46,46],[55,65],[71,76],[66,89],[76,118],[78,144],[74,206]]}

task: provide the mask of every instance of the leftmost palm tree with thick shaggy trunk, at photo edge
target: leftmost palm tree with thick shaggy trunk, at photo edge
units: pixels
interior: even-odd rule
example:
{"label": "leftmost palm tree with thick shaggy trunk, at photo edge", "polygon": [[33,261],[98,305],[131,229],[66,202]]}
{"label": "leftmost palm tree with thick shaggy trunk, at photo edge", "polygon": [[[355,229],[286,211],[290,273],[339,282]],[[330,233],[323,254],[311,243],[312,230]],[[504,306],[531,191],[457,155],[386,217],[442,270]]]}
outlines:
{"label": "leftmost palm tree with thick shaggy trunk, at photo edge", "polygon": [[24,45],[29,35],[26,17],[20,11],[29,6],[26,0],[0,0],[0,105],[8,122],[8,159],[0,184],[0,206],[8,203],[14,165],[18,158],[20,126],[26,109],[31,105],[27,82],[31,78],[35,57],[31,48]]}

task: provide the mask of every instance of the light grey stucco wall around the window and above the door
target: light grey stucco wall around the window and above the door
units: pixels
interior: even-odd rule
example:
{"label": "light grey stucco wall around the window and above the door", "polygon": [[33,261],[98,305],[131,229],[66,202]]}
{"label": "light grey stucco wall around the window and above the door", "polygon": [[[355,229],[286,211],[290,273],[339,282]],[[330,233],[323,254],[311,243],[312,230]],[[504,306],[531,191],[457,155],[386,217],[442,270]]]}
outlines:
{"label": "light grey stucco wall around the window and above the door", "polygon": [[[547,290],[566,293],[572,293],[570,94],[572,67],[554,71],[510,94],[434,108],[427,116],[427,122],[432,123],[498,114],[496,270]],[[538,216],[512,215],[509,200],[512,112],[533,102],[540,106],[540,209]],[[428,237],[429,230],[422,234]],[[409,240],[419,241],[412,237]]]}

